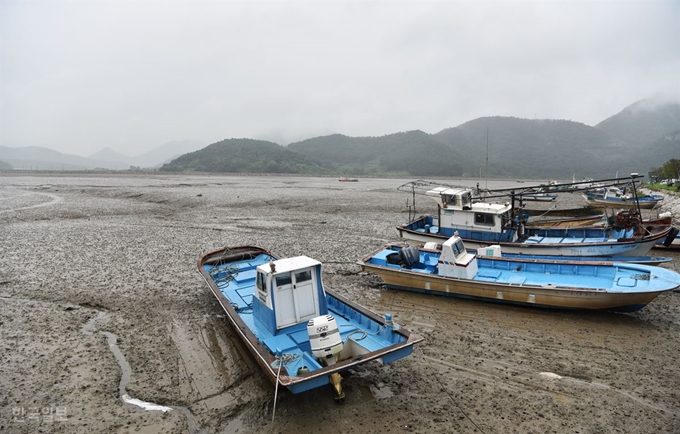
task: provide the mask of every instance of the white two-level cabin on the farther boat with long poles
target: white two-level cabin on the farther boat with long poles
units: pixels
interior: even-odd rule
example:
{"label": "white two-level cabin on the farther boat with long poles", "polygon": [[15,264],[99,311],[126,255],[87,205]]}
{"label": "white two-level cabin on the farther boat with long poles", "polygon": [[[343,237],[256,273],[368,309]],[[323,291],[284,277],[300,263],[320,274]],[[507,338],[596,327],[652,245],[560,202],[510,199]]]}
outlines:
{"label": "white two-level cabin on the farther boat with long poles", "polygon": [[510,203],[473,202],[470,189],[437,187],[425,194],[439,205],[435,224],[441,228],[502,233],[511,223]]}

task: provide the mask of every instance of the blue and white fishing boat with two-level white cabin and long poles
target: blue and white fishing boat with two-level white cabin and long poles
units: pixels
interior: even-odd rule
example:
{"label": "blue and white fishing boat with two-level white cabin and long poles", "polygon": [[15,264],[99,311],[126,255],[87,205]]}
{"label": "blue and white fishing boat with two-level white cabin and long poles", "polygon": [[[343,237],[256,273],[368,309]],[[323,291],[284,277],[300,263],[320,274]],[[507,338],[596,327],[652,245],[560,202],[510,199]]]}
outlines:
{"label": "blue and white fishing boat with two-level white cabin and long poles", "polygon": [[401,238],[443,243],[455,232],[470,249],[499,244],[507,253],[558,256],[646,256],[659,241],[670,242],[669,225],[641,225],[632,214],[617,215],[613,225],[532,227],[512,201],[473,201],[469,188],[435,187],[425,195],[438,214],[422,215],[397,227]]}

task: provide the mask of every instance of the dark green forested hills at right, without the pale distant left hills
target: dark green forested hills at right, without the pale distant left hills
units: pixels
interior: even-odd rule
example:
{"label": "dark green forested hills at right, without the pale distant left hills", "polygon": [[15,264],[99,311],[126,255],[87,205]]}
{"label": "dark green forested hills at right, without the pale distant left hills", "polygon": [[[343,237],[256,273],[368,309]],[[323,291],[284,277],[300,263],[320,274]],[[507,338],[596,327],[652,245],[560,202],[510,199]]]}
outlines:
{"label": "dark green forested hills at right, without the pale distant left hills", "polygon": [[[598,127],[496,116],[436,134],[334,134],[286,147],[230,139],[183,155],[161,170],[582,179],[646,175],[680,159],[680,105],[634,106]],[[630,131],[637,131],[634,138]]]}

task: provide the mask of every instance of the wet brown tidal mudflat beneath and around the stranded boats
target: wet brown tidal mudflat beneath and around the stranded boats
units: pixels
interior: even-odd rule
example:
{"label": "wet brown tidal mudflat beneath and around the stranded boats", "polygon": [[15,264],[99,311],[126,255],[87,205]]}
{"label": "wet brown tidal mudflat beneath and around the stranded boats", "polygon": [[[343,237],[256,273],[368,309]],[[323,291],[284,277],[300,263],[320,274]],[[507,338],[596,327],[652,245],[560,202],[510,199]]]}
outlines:
{"label": "wet brown tidal mudflat beneath and around the stranded boats", "polygon": [[[386,290],[355,261],[397,239],[407,181],[0,174],[0,431],[680,432],[679,292],[615,314]],[[425,341],[348,372],[342,405],[330,387],[275,402],[196,271],[239,244],[324,262]]]}

